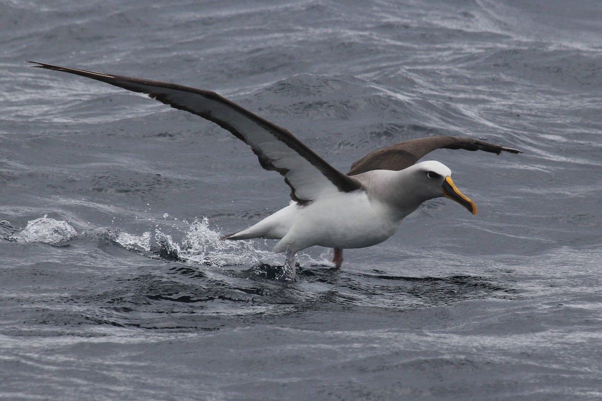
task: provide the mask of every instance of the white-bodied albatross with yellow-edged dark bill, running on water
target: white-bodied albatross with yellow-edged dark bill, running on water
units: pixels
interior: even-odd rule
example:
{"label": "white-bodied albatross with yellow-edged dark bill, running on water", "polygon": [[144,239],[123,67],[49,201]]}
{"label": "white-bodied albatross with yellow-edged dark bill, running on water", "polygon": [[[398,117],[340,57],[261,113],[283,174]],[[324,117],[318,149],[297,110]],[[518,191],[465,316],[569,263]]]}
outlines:
{"label": "white-bodied albatross with yellow-edged dark bill, running on water", "polygon": [[522,153],[515,148],[464,136],[409,139],[368,153],[343,173],[332,167],[293,133],[214,91],[170,82],[38,63],[36,68],[67,72],[147,94],[176,109],[213,121],[245,142],[265,170],[277,171],[290,187],[290,204],[249,228],[222,240],[276,239],[275,253],[285,253],[283,281],[296,280],[296,253],[310,246],[334,249],[339,269],[343,249],[364,248],[396,233],[406,216],[424,201],[447,197],[476,214],[476,204],[452,181],[450,168],[419,159],[438,148]]}

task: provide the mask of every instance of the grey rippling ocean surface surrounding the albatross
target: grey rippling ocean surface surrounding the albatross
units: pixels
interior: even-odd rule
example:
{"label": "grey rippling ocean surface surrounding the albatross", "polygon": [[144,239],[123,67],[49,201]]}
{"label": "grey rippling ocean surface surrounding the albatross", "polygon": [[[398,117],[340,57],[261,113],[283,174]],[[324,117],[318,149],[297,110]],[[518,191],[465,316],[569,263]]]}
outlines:
{"label": "grey rippling ocean surface surrounding the albatross", "polygon": [[[479,212],[219,242],[288,204],[234,136],[25,60],[206,88],[342,171],[437,150]],[[601,400],[599,0],[0,1],[0,399]]]}

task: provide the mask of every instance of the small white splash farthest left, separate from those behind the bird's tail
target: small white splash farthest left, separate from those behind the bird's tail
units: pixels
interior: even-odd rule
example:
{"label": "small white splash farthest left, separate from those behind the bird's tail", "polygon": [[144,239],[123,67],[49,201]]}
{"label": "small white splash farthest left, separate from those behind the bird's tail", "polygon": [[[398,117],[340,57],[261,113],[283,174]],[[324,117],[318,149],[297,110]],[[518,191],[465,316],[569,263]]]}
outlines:
{"label": "small white splash farthest left, separate from those behind the bird's tail", "polygon": [[55,220],[44,215],[39,219],[31,220],[27,226],[18,233],[11,234],[9,240],[16,242],[44,242],[57,245],[67,242],[77,235],[75,228],[64,220]]}

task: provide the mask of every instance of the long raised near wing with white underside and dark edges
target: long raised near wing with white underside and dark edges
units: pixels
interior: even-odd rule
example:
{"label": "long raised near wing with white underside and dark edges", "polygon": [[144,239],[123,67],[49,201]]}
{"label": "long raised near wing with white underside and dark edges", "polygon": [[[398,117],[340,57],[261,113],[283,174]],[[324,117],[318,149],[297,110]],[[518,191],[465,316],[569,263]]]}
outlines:
{"label": "long raised near wing with white underside and dark edges", "polygon": [[37,68],[57,70],[106,82],[134,92],[146,93],[152,99],[213,121],[251,147],[265,170],[274,170],[285,177],[291,198],[307,204],[325,191],[351,192],[362,185],[338,171],[299,141],[288,130],[244,109],[219,94],[169,82],[128,76],[109,75],[72,69],[52,64]]}

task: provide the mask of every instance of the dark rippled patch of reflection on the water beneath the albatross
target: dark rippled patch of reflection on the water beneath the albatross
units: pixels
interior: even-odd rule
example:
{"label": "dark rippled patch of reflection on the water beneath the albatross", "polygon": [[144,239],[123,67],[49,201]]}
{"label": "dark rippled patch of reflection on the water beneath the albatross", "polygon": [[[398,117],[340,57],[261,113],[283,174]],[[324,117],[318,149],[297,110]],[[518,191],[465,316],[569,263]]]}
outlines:
{"label": "dark rippled patch of reflection on the water beneath the albatross", "polygon": [[286,325],[296,322],[299,313],[353,316],[374,308],[396,313],[470,299],[511,298],[514,292],[491,278],[468,275],[395,277],[300,268],[298,281],[281,283],[276,280],[282,266],[220,270],[167,262],[154,267],[72,293],[40,323],[219,330],[266,322]]}

